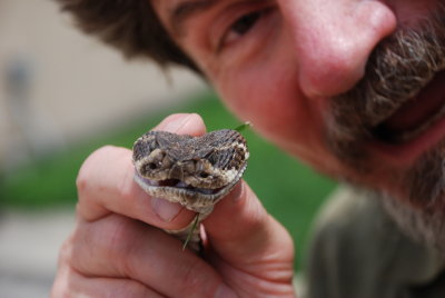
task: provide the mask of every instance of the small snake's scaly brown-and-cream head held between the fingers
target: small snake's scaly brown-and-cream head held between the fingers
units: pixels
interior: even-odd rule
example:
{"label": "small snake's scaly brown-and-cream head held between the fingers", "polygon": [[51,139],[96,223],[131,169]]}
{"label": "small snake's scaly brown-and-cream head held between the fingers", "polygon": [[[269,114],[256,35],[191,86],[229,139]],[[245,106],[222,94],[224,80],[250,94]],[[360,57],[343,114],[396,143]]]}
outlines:
{"label": "small snake's scaly brown-and-cream head held between the fingers", "polygon": [[[205,219],[241,178],[249,157],[245,138],[222,129],[201,137],[149,131],[134,145],[135,180],[151,196],[179,202]],[[177,181],[177,182],[176,182]],[[191,222],[192,224],[192,222]],[[199,228],[167,231],[199,247]]]}

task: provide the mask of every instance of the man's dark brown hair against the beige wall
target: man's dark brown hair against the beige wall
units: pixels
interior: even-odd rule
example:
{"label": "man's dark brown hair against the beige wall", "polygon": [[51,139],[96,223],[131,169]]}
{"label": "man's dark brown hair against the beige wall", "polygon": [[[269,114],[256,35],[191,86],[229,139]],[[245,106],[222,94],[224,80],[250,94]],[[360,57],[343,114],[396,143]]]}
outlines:
{"label": "man's dark brown hair against the beige wall", "polygon": [[56,0],[86,33],[118,48],[127,58],[199,69],[171,40],[149,0]]}

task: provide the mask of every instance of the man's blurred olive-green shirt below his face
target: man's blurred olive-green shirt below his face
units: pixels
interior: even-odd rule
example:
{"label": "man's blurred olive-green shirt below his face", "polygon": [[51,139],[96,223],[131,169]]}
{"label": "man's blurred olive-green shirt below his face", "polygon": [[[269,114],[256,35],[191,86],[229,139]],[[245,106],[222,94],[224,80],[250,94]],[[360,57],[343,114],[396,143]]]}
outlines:
{"label": "man's blurred olive-green shirt below his face", "polygon": [[405,236],[377,198],[343,188],[314,230],[307,298],[445,297],[443,254]]}

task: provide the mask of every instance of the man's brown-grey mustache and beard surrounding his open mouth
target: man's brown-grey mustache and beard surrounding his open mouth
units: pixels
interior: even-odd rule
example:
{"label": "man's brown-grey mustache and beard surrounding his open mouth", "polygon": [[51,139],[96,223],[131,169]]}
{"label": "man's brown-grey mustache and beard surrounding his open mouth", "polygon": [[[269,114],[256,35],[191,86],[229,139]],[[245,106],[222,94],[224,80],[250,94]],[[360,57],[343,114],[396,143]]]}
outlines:
{"label": "man's brown-grey mustache and beard surrounding his open mouth", "polygon": [[445,7],[439,4],[416,28],[399,28],[380,42],[369,57],[364,78],[348,92],[333,98],[325,117],[327,145],[353,169],[353,179],[383,172],[390,177],[390,183],[402,190],[398,195],[373,190],[388,215],[408,235],[441,249],[445,249],[445,141],[403,171],[379,165],[366,150],[366,142],[403,141],[406,136],[390,131],[386,120],[404,103],[416,100],[444,69]]}

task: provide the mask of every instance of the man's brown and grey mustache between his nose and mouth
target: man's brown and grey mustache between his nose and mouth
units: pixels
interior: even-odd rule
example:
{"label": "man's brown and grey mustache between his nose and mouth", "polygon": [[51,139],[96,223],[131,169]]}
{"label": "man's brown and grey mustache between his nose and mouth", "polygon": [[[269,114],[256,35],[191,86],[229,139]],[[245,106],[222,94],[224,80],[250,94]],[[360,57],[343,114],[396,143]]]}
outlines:
{"label": "man's brown and grey mustache between his nose and mouth", "polygon": [[349,91],[334,97],[326,115],[327,141],[343,159],[364,157],[358,143],[445,68],[445,8],[416,28],[399,28],[369,56],[365,76]]}

